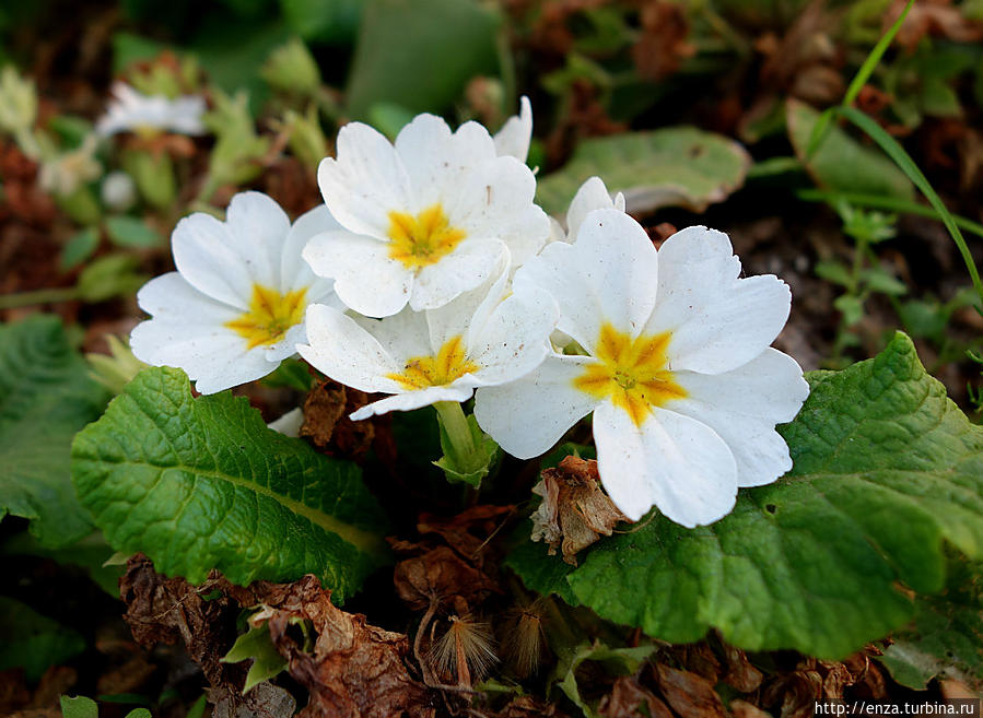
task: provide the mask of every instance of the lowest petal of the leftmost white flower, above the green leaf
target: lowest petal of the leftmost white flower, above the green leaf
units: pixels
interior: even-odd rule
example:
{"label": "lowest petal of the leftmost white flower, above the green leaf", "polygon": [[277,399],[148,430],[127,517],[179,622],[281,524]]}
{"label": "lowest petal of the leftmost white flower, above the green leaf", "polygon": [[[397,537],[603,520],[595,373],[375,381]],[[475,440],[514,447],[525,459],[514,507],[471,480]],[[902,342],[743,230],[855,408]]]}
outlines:
{"label": "lowest petal of the leftmost white flower, above the green leaf", "polygon": [[154,366],[175,366],[196,379],[201,393],[214,393],[265,377],[279,365],[262,349],[246,350],[242,337],[223,327],[143,321],[130,334],[133,355]]}

